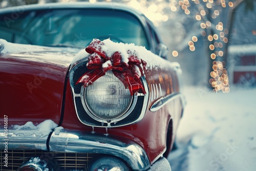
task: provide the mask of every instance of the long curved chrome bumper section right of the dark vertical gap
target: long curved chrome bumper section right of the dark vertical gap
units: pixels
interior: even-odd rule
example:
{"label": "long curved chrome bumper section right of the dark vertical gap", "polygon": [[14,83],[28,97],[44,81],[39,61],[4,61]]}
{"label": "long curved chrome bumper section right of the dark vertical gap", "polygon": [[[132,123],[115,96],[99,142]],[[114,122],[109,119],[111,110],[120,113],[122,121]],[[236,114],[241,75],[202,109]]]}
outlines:
{"label": "long curved chrome bumper section right of the dark vertical gap", "polygon": [[73,153],[97,153],[119,157],[126,161],[133,170],[147,170],[150,161],[144,149],[138,144],[125,139],[125,143],[100,135],[80,135],[78,132],[53,132],[49,141],[50,151]]}

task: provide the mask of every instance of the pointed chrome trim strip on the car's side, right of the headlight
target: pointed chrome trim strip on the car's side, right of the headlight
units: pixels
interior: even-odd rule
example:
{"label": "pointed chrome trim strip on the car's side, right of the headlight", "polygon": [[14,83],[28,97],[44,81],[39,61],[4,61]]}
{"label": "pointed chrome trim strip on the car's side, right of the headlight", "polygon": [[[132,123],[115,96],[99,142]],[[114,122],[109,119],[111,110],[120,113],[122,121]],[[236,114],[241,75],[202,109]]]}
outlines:
{"label": "pointed chrome trim strip on the car's side, right of the headlight", "polygon": [[182,103],[182,105],[184,105],[183,95],[181,93],[172,93],[172,94],[168,94],[165,97],[161,97],[156,102],[154,102],[153,105],[150,108],[150,111],[151,112],[156,112],[157,110],[162,108],[162,106],[164,106],[166,103],[168,103],[169,101],[174,100],[175,98],[181,98],[181,103]]}

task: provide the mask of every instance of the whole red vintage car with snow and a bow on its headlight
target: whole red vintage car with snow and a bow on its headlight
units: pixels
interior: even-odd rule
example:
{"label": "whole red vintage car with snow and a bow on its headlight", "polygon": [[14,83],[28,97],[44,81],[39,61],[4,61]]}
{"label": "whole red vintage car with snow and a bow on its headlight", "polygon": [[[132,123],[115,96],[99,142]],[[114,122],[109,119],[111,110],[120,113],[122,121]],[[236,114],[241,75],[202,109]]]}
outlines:
{"label": "whole red vintage car with snow and a bow on its headlight", "polygon": [[1,170],[171,170],[181,70],[114,3],[0,10]]}

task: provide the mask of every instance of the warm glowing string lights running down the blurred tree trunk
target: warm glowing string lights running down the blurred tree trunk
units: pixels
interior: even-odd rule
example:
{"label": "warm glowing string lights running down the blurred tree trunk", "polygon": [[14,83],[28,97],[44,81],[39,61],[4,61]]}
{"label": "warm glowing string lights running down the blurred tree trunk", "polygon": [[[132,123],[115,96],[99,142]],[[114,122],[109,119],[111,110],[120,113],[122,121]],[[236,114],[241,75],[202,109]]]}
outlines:
{"label": "warm glowing string lights running down the blurred tree trunk", "polygon": [[[200,5],[198,8],[198,12],[195,14],[195,19],[198,21],[201,21],[200,27],[202,29],[201,35],[202,36],[207,36],[207,40],[209,41],[209,50],[215,51],[214,53],[210,54],[210,58],[212,60],[215,60],[217,57],[222,57],[225,53],[225,49],[223,44],[226,44],[228,42],[227,37],[225,37],[229,31],[227,28],[224,28],[223,23],[218,22],[218,24],[214,27],[212,27],[212,24],[209,20],[205,22],[209,13],[209,10],[212,9],[214,6],[221,6],[222,8],[226,7],[226,4],[228,4],[229,7],[232,7],[233,4],[232,2],[226,2],[225,0],[217,0],[216,3],[214,4],[213,0],[203,0],[203,2],[200,1],[194,1],[193,2],[197,5]],[[206,4],[200,4],[200,3],[206,3]],[[179,1],[180,6],[184,6],[185,3],[182,1]],[[206,8],[202,8],[202,6],[206,6]],[[208,8],[208,9],[207,9]],[[184,7],[182,8],[184,9]],[[186,8],[189,10],[189,8]],[[220,16],[220,8],[213,10],[214,12],[211,14],[211,20],[212,19],[218,19],[217,17]],[[214,33],[215,34],[208,34],[207,29],[215,29]],[[194,36],[193,36],[194,37]],[[195,45],[194,42],[189,40],[188,41],[188,46],[190,51],[195,51]],[[220,49],[220,50],[219,50]],[[210,73],[210,80],[209,83],[211,84],[213,91],[218,92],[222,91],[223,93],[229,93],[229,79],[228,79],[228,74],[227,70],[225,69],[226,63],[223,61],[214,61],[212,63],[212,72]]]}

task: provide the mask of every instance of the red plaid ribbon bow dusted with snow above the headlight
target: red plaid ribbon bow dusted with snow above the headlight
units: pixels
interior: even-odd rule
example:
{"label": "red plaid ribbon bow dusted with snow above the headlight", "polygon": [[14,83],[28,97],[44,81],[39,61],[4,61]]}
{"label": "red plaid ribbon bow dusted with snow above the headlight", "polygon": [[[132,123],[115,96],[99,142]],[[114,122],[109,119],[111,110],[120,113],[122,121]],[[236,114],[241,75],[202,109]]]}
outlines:
{"label": "red plaid ribbon bow dusted with snow above the headlight", "polygon": [[[86,51],[91,55],[88,57],[87,68],[90,71],[83,74],[78,81],[82,82],[84,87],[90,86],[99,77],[105,75],[106,71],[112,70],[113,74],[129,88],[131,95],[139,90],[146,94],[140,77],[143,76],[146,62],[138,58],[136,51],[127,50],[128,62],[122,61],[121,53],[116,51],[111,57],[106,56],[102,50],[104,43],[99,39],[93,39]],[[142,69],[142,67],[143,69]]]}

